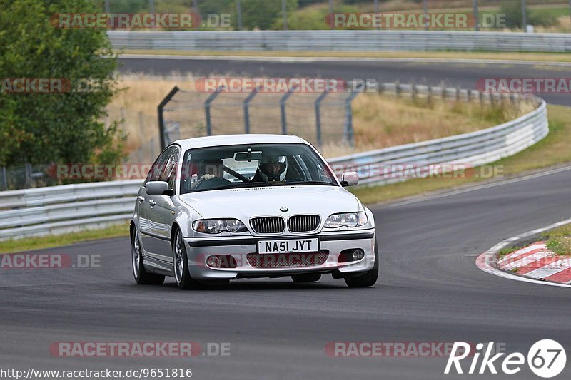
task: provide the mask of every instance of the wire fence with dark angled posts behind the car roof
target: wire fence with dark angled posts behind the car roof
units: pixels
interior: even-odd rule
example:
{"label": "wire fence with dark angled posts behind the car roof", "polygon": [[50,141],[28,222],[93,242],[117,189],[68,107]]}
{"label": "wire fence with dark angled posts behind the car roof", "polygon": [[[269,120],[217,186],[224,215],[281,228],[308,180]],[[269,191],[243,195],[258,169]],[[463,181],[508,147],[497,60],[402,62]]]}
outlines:
{"label": "wire fence with dark angled posts behind the car roof", "polygon": [[163,108],[163,146],[178,138],[236,133],[298,135],[318,147],[352,145],[350,104],[356,94],[178,90]]}

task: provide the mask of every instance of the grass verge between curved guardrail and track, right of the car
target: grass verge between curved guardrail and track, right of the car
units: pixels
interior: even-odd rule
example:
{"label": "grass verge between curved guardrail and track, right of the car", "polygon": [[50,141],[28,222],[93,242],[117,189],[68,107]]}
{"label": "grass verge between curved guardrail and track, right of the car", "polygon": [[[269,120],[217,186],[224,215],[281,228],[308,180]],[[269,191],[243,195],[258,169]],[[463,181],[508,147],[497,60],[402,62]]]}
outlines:
{"label": "grass verge between curved guardrail and track, right of the car", "polygon": [[[545,139],[517,153],[517,155],[491,164],[493,168],[502,170],[503,177],[511,177],[530,170],[571,162],[571,149],[569,149],[571,108],[547,106],[547,111],[550,120],[550,134]],[[485,175],[488,168],[490,167],[475,168],[475,175],[469,178],[419,178],[385,186],[354,188],[351,189],[351,192],[357,195],[363,203],[374,205],[375,203],[398,200],[425,192],[450,190],[463,185],[490,180],[490,177]],[[493,179],[497,179],[497,177]]]}

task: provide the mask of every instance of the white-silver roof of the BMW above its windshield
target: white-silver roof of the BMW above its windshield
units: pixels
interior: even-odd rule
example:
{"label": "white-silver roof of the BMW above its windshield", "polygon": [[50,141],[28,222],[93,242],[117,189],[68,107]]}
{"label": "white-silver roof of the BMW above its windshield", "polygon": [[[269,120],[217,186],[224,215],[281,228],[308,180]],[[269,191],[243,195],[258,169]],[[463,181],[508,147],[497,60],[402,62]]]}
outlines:
{"label": "white-silver roof of the BMW above its windshield", "polygon": [[262,135],[262,134],[241,134],[241,135],[218,135],[198,138],[187,138],[176,140],[173,144],[181,145],[183,149],[206,148],[223,145],[242,144],[271,144],[271,143],[302,143],[308,144],[298,136],[294,135]]}

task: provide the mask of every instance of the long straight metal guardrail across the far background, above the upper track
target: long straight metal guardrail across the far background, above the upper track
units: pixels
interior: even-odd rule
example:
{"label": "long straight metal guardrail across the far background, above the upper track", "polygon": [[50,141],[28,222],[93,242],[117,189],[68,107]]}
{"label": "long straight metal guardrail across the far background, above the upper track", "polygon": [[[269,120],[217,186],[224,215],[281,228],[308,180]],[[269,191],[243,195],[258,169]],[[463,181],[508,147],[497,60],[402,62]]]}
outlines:
{"label": "long straight metal guardrail across the far background, above the upper track", "polygon": [[571,51],[571,34],[487,31],[108,31],[113,48],[180,51]]}

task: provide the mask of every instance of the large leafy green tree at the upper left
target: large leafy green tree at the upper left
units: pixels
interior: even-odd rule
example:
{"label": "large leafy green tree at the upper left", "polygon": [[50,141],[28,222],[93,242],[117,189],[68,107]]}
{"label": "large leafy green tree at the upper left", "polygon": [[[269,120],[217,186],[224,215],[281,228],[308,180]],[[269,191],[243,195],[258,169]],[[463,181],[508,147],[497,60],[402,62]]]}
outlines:
{"label": "large leafy green tree at the upper left", "polygon": [[[89,81],[91,91],[0,93],[0,165],[89,163],[123,157],[116,123],[101,123],[116,93],[104,29],[59,29],[55,14],[98,11],[89,0],[0,0],[1,78]],[[103,58],[106,57],[106,58]]]}

